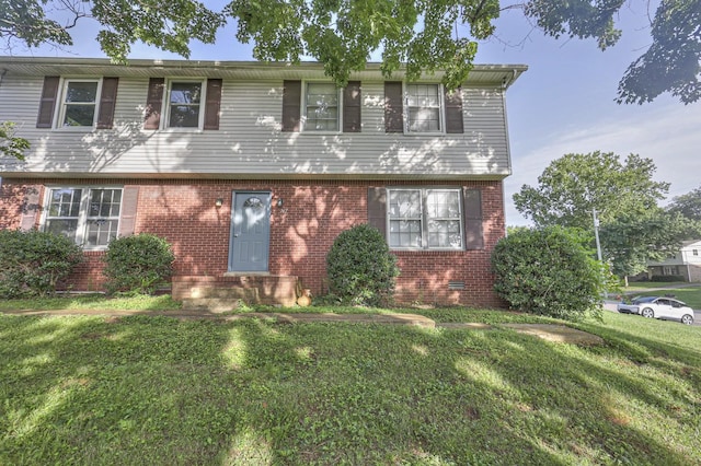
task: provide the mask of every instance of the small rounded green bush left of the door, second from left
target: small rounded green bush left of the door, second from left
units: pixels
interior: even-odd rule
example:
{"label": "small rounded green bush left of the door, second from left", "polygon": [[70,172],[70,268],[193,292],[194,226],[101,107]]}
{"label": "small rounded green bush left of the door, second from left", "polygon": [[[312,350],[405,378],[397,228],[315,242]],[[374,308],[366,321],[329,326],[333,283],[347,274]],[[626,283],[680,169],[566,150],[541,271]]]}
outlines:
{"label": "small rounded green bush left of the door, second from left", "polygon": [[107,292],[152,294],[173,273],[171,245],[150,233],[110,242],[104,257]]}

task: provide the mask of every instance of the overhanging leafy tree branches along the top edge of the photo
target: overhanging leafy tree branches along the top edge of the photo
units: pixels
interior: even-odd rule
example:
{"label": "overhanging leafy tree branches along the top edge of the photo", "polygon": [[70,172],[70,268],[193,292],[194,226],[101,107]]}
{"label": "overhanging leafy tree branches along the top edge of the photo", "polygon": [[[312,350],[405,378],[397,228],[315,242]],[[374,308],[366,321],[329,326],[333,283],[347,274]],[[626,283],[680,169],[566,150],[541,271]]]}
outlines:
{"label": "overhanging leafy tree branches along the top edge of the photo", "polygon": [[[639,0],[642,8],[648,2]],[[464,80],[476,40],[495,33],[493,20],[522,8],[548,35],[595,38],[601,49],[622,32],[614,19],[624,0],[232,0],[212,11],[194,0],[0,0],[0,38],[27,46],[72,45],[70,28],[84,18],[97,21],[97,40],[108,57],[126,61],[131,45],[146,44],[187,58],[189,42],[215,42],[229,20],[237,38],[253,42],[258,60],[299,61],[312,57],[343,85],[370,54],[382,50],[382,71],[401,65],[409,79],[446,70],[451,88]],[[650,102],[670,92],[683,103],[701,96],[701,0],[660,0],[650,13],[652,43],[619,85],[619,103]]]}

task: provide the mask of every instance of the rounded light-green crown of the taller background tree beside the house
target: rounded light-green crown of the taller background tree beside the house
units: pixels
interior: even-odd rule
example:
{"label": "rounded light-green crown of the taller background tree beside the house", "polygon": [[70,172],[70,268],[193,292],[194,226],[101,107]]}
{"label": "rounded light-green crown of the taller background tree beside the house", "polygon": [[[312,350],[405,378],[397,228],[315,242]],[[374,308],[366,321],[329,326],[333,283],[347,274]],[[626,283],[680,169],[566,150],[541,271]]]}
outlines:
{"label": "rounded light-green crown of the taller background tree beside the house", "polygon": [[516,209],[536,225],[586,230],[593,229],[594,209],[601,223],[648,212],[664,199],[669,184],[652,179],[656,166],[651,159],[619,159],[613,152],[596,151],[554,160],[537,187],[524,185],[514,195]]}

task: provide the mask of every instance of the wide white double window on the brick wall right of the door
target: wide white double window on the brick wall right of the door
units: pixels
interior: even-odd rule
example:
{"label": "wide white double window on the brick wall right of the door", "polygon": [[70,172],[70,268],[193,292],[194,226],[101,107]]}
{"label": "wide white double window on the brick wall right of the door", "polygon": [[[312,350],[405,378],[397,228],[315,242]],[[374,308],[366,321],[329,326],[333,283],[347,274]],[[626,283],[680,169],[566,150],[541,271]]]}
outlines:
{"label": "wide white double window on the brick wall right of the door", "polygon": [[463,248],[460,189],[388,189],[387,212],[392,248]]}

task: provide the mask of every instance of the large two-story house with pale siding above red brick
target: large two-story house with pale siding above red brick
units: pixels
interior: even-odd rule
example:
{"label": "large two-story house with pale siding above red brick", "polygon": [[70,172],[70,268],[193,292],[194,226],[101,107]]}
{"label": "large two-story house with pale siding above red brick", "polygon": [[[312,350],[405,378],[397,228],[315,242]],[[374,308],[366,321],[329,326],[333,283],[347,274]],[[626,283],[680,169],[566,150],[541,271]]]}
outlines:
{"label": "large two-story house with pale siding above red brick", "polygon": [[173,294],[216,287],[291,304],[326,291],[336,235],[369,222],[401,276],[397,299],[499,305],[490,255],[505,234],[506,90],[525,66],[336,89],[319,63],[0,58],[0,121],[31,141],[0,159],[0,228],[62,233],[97,290],[110,241],[165,237]]}

